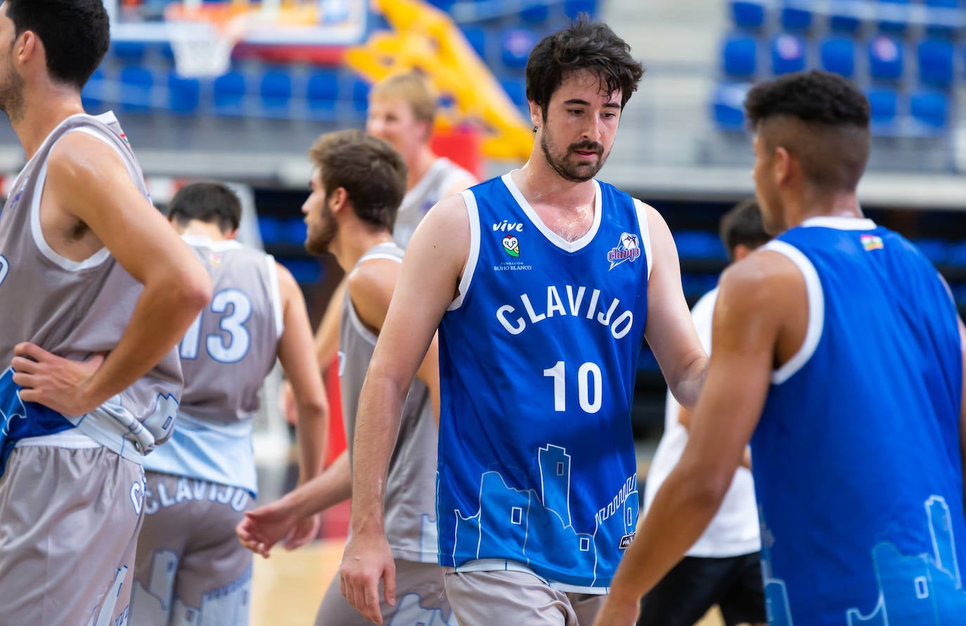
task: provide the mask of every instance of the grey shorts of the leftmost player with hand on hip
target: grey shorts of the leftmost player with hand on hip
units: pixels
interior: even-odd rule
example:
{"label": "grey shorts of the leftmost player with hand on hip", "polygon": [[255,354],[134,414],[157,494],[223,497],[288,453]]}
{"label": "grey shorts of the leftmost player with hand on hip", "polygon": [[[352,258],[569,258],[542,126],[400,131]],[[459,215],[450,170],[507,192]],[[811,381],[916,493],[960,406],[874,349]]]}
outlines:
{"label": "grey shorts of the leftmost player with hand on hip", "polygon": [[24,445],[0,477],[0,626],[128,617],[144,472],[105,447]]}

